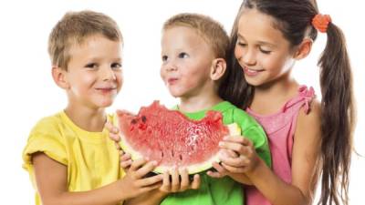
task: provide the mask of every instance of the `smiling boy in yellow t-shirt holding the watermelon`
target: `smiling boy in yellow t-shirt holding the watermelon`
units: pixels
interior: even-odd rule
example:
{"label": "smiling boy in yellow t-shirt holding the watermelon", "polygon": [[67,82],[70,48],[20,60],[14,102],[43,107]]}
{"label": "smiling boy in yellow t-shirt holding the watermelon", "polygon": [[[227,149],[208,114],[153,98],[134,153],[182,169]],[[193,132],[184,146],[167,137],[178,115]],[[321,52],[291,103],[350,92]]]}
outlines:
{"label": "smiling boy in yellow t-shirt holding the watermelon", "polygon": [[117,24],[96,12],[68,13],[53,28],[52,77],[66,91],[68,106],[38,121],[23,152],[36,205],[118,204],[161,186],[160,175],[143,178],[155,162],[136,160],[122,172],[104,128],[113,118],[105,108],[122,85],[122,43]]}

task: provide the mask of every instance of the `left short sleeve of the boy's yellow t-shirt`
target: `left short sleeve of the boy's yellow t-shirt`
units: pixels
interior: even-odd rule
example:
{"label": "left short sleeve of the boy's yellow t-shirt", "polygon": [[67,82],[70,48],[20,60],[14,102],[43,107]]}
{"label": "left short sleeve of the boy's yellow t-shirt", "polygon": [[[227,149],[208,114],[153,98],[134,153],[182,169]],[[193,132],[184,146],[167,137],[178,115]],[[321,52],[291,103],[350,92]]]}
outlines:
{"label": "left short sleeve of the boy's yellow t-shirt", "polygon": [[49,158],[62,164],[68,164],[67,150],[57,124],[43,119],[32,129],[23,151],[23,168],[29,170],[32,166],[32,154],[43,152]]}

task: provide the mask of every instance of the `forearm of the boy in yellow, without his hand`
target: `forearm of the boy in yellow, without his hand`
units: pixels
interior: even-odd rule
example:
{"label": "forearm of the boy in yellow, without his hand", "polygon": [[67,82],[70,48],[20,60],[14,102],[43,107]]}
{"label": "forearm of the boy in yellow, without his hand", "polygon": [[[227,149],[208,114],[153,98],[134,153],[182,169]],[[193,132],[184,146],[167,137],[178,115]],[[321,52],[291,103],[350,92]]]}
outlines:
{"label": "forearm of the boy in yellow, without his hand", "polygon": [[42,197],[44,205],[116,205],[125,200],[120,181],[89,191],[65,191]]}

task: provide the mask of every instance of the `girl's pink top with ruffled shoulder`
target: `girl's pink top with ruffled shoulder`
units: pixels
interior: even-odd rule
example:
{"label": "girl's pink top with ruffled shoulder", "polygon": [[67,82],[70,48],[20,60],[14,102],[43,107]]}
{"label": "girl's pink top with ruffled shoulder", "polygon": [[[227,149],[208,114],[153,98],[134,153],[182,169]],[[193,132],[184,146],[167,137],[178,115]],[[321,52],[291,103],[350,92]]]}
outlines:
{"label": "girl's pink top with ruffled shoulder", "polygon": [[[247,113],[254,117],[266,131],[271,151],[272,169],[287,183],[291,183],[291,156],[297,115],[302,107],[308,114],[309,104],[313,97],[315,97],[313,87],[308,89],[306,86],[301,86],[298,89],[297,97],[288,100],[275,114],[262,116],[250,108],[246,109]],[[246,205],[271,204],[254,186],[245,187],[245,197]]]}

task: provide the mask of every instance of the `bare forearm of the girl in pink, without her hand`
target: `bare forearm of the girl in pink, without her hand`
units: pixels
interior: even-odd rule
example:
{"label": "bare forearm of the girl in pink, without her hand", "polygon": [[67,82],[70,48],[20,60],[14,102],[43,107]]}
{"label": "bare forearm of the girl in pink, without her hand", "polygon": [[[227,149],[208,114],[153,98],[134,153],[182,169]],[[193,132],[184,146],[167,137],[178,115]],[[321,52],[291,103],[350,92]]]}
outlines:
{"label": "bare forearm of the girl in pink, without her hand", "polygon": [[296,186],[277,177],[262,160],[255,170],[247,172],[246,175],[255,184],[256,189],[273,205],[310,204],[311,200],[308,196],[305,196]]}

